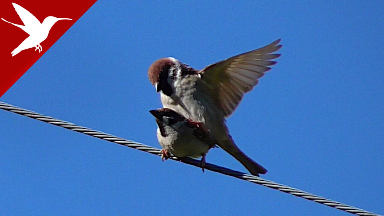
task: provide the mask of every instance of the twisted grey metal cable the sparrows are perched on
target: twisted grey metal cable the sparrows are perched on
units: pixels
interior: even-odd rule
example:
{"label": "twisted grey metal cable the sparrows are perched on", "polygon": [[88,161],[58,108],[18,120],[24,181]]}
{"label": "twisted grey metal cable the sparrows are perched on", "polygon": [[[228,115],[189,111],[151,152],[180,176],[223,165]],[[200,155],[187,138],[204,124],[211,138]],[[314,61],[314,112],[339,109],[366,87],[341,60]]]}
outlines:
{"label": "twisted grey metal cable the sparrows are perched on", "polygon": [[[84,133],[84,134],[89,135],[89,136],[94,136],[94,137],[102,139],[102,140],[110,141],[113,143],[117,143],[119,145],[123,145],[123,146],[127,146],[127,147],[134,148],[137,150],[145,151],[145,152],[148,152],[148,153],[151,153],[154,155],[159,155],[159,156],[161,155],[160,150],[157,148],[154,148],[152,146],[147,146],[147,145],[144,145],[141,143],[137,143],[135,141],[119,138],[117,136],[103,133],[101,131],[92,130],[90,128],[86,128],[83,126],[78,126],[78,125],[75,125],[75,124],[68,122],[68,121],[58,120],[58,119],[52,118],[50,116],[41,115],[39,113],[35,113],[33,111],[30,111],[30,110],[25,110],[23,108],[19,108],[17,106],[13,106],[13,105],[1,102],[1,101],[0,101],[0,109],[7,110],[7,111],[10,111],[13,113],[17,113],[17,114],[20,114],[23,116],[28,116],[30,118],[34,118],[34,119],[37,119],[40,121],[44,121],[46,123],[50,123],[52,125],[60,126],[62,128],[67,128],[67,129],[70,129],[73,131],[77,131],[79,133]],[[192,158],[178,158],[176,156],[171,156],[170,159],[175,160],[175,161],[181,161],[183,163],[190,164],[193,166],[201,167],[200,161],[192,159]],[[206,163],[205,169],[208,169],[208,170],[211,170],[211,171],[214,171],[217,173],[222,173],[222,174],[225,174],[228,176],[233,176],[235,178],[242,179],[245,181],[250,181],[252,183],[260,184],[260,185],[266,186],[268,188],[283,191],[285,193],[289,193],[289,194],[292,194],[294,196],[308,199],[308,200],[314,201],[316,203],[324,204],[326,206],[340,209],[340,210],[343,210],[343,211],[346,211],[346,212],[349,212],[352,214],[357,214],[357,215],[361,215],[361,216],[381,216],[379,214],[365,211],[364,209],[359,209],[359,208],[349,206],[349,205],[346,205],[343,203],[332,201],[330,199],[326,199],[326,198],[321,197],[321,196],[316,196],[314,194],[302,191],[300,189],[291,188],[291,187],[285,186],[283,184],[279,184],[279,183],[269,181],[269,180],[266,180],[266,179],[263,179],[263,178],[260,178],[257,176],[253,176],[250,174],[246,174],[246,173],[238,172],[238,171],[235,171],[232,169],[217,166],[215,164]]]}

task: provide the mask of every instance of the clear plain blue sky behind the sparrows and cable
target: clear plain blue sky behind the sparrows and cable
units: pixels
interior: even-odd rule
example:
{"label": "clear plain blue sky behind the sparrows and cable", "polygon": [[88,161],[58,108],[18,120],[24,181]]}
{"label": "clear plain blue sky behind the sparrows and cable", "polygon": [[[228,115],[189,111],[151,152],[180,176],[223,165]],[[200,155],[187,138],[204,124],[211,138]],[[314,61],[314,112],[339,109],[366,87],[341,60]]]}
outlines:
{"label": "clear plain blue sky behind the sparrows and cable", "polygon": [[[228,126],[263,178],[384,214],[384,7],[98,1],[0,100],[160,147],[147,79],[282,38]],[[340,215],[263,186],[0,110],[1,215]],[[221,149],[210,163],[245,171]]]}

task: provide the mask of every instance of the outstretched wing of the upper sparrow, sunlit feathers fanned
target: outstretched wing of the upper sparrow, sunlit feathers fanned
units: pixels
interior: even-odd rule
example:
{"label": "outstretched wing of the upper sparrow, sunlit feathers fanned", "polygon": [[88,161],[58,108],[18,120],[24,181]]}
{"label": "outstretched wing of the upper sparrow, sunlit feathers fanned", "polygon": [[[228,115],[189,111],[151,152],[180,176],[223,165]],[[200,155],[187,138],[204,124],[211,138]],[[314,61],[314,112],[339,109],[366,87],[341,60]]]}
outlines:
{"label": "outstretched wing of the upper sparrow, sunlit feathers fanned", "polygon": [[270,54],[278,49],[281,39],[257,50],[219,61],[199,71],[212,90],[218,107],[225,117],[230,116],[237,108],[245,93],[257,85],[258,79],[274,65],[270,61],[280,54]]}

